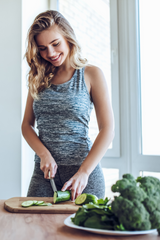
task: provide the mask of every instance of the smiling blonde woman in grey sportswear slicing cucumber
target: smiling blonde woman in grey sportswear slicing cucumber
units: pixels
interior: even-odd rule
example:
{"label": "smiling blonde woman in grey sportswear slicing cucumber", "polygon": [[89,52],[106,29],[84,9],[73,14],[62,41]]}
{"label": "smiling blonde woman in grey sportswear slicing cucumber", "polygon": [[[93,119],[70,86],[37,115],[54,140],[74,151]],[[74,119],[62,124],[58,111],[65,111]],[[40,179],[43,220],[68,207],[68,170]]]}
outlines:
{"label": "smiling blonde woman in grey sportswear slicing cucumber", "polygon": [[[114,119],[102,71],[81,57],[73,29],[57,11],[35,18],[26,59],[29,92],[22,134],[36,153],[27,196],[53,196],[50,171],[57,189],[70,189],[72,200],[82,192],[103,198],[99,162],[113,140]],[[99,126],[94,144],[88,137],[93,105]]]}

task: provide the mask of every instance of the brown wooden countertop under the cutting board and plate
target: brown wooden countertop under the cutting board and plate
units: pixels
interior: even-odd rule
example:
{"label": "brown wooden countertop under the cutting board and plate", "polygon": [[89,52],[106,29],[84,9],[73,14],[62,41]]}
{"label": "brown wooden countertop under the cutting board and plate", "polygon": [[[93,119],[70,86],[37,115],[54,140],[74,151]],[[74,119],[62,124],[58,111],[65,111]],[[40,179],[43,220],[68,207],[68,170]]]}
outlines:
{"label": "brown wooden countertop under the cutting board and plate", "polygon": [[112,237],[72,229],[64,225],[70,214],[10,213],[0,200],[0,240],[160,240],[157,233]]}

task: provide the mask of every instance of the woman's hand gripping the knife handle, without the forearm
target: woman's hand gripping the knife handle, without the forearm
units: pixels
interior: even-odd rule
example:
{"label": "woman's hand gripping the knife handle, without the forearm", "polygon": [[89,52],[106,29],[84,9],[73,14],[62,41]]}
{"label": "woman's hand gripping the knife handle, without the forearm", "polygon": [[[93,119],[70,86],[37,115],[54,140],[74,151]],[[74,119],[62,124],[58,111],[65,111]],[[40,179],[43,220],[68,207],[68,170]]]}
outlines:
{"label": "woman's hand gripping the knife handle, without the forearm", "polygon": [[55,177],[57,172],[57,164],[50,153],[41,156],[40,169],[44,172],[44,178],[50,179]]}

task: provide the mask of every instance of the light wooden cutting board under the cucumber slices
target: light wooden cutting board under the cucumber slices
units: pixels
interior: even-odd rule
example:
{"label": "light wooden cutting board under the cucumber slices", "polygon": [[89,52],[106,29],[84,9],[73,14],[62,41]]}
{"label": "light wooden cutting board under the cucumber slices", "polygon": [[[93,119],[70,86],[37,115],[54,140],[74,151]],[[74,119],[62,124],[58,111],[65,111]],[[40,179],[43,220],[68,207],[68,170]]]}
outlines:
{"label": "light wooden cutting board under the cucumber slices", "polygon": [[[28,200],[44,201],[53,205],[22,207],[22,202]],[[75,213],[79,206],[71,201],[54,204],[52,197],[14,197],[4,202],[4,208],[12,213]]]}

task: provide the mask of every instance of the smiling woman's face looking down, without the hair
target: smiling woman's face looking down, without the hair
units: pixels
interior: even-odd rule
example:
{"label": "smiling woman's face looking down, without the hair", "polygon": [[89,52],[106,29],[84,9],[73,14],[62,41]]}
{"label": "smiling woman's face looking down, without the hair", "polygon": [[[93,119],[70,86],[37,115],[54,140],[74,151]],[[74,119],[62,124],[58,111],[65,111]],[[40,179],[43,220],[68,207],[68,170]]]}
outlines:
{"label": "smiling woman's face looking down, without the hair", "polygon": [[65,64],[69,59],[69,44],[55,24],[36,36],[36,43],[42,58],[55,67]]}

